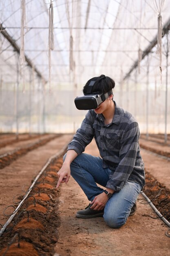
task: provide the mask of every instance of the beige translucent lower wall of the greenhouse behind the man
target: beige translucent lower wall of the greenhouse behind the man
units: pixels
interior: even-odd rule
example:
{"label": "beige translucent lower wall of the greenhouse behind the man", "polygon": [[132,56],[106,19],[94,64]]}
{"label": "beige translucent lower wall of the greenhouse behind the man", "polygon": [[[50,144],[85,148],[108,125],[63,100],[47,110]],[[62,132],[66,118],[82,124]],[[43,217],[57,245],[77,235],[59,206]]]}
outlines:
{"label": "beige translucent lower wall of the greenhouse behind the man", "polygon": [[[130,86],[130,83],[129,83]],[[145,88],[144,85],[143,88]],[[134,115],[141,133],[146,133],[148,119],[149,133],[165,132],[165,90],[128,90],[119,91],[119,85],[113,90],[114,100],[119,106]],[[82,92],[77,92],[81,95]],[[148,107],[147,107],[148,95]],[[168,98],[170,92],[168,92]],[[75,91],[52,90],[42,88],[26,90],[16,85],[3,85],[0,91],[0,132],[57,132],[72,133],[79,128],[85,110],[77,110],[74,104]],[[168,102],[170,109],[170,102]],[[148,112],[147,112],[148,111]],[[148,113],[148,114],[147,114]],[[170,133],[170,112],[168,112],[167,132]]]}

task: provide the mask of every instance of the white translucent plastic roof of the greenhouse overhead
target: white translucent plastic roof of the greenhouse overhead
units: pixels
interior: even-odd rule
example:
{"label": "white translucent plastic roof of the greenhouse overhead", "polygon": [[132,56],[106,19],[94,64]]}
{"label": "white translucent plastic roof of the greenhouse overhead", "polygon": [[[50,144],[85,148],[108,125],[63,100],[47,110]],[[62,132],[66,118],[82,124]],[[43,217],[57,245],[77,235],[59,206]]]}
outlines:
{"label": "white translucent plastic roof of the greenhouse overhead", "polygon": [[[0,1],[2,29],[19,48],[22,2],[24,0]],[[25,0],[24,23],[24,53],[47,82],[50,3],[50,0]],[[53,0],[52,4],[54,49],[51,51],[51,86],[55,88],[69,84],[69,88],[78,86],[81,89],[88,79],[100,74],[111,76],[121,83],[138,60],[139,48],[144,52],[157,36],[159,11],[162,27],[170,22],[169,0]],[[166,36],[162,41],[166,44]],[[151,49],[150,57],[153,79],[155,72],[159,76],[156,50],[157,46]],[[162,51],[165,52],[165,49]],[[11,43],[0,34],[0,74],[5,83],[17,79],[17,55]],[[141,61],[141,79],[146,76],[146,61],[147,57]],[[163,79],[165,66],[163,55]],[[23,75],[22,71],[20,75]],[[29,81],[28,68],[25,68],[24,75]]]}

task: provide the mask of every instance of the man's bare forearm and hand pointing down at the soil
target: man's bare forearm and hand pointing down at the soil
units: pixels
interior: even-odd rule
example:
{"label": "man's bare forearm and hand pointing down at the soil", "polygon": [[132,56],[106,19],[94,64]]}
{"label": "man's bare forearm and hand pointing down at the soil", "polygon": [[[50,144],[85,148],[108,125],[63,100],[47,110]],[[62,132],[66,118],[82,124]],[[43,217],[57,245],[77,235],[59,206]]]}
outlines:
{"label": "man's bare forearm and hand pointing down at the soil", "polygon": [[75,150],[68,150],[67,154],[66,154],[66,158],[64,160],[64,163],[62,164],[62,167],[60,169],[60,171],[58,171],[57,175],[59,177],[59,180],[57,182],[57,188],[60,186],[60,183],[66,183],[68,182],[69,178],[70,178],[70,164],[71,162],[75,159],[75,157],[77,157],[77,153],[75,152]]}

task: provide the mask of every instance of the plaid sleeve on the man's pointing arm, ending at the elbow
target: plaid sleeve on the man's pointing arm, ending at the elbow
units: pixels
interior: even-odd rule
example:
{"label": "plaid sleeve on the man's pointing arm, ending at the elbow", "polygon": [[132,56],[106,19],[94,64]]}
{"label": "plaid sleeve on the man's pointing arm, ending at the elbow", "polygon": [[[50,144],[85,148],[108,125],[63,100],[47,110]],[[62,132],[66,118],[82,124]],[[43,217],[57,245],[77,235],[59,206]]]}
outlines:
{"label": "plaid sleeve on the man's pointing arm, ending at the elbow", "polygon": [[94,114],[93,110],[89,110],[86,114],[85,119],[82,121],[81,127],[77,130],[73,137],[73,140],[68,144],[67,150],[75,150],[80,155],[84,152],[86,146],[92,141],[94,137]]}

